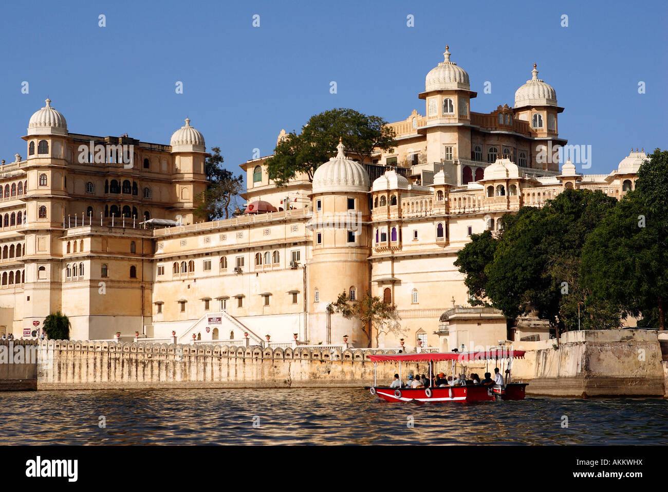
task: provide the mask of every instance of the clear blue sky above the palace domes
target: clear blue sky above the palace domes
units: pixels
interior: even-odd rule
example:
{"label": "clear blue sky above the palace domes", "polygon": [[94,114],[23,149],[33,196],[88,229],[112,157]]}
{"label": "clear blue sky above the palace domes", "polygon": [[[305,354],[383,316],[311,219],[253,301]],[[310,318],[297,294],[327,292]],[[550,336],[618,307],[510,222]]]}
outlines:
{"label": "clear blue sky above the palace domes", "polygon": [[[665,1],[62,1],[3,5],[0,157],[24,158],[47,96],[70,132],[168,144],[188,116],[228,168],[271,154],[281,130],[354,108],[389,122],[424,114],[424,78],[446,44],[478,98],[512,106],[539,78],[559,134],[607,173],[633,146],[667,145]],[[98,16],[106,15],[106,27]],[[253,15],[260,27],[253,27]],[[568,27],[561,16],[568,15]],[[414,27],[407,27],[407,15]],[[29,94],[21,94],[21,83]],[[183,82],[183,94],[175,84]],[[330,82],[337,94],[330,94]],[[484,94],[484,82],[492,93]],[[645,82],[645,94],[638,84]]]}

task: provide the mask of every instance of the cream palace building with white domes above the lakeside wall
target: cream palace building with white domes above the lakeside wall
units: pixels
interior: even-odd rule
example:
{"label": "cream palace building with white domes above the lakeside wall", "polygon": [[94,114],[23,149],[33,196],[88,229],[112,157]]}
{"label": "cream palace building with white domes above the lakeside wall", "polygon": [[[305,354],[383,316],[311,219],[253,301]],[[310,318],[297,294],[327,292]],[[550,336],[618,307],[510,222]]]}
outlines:
{"label": "cream palace building with white domes above the lakeside wall", "polygon": [[472,234],[496,231],[505,213],[564,189],[621,197],[647,156],[632,151],[610,174],[560,166],[552,149],[567,143],[558,136],[564,108],[536,65],[514,106],[482,114],[450,56],[446,47],[418,94],[424,116],[413,110],[390,124],[395,148],[359,162],[339,143],[312,182],[297,176],[287,187],[269,179],[269,156],[244,162],[244,211],[212,222],[193,215],[208,154],[190,120],[169,145],[74,134],[47,100],[23,137],[27,158],[1,169],[0,332],[39,334],[60,311],[77,340],[347,336],[367,346],[360,322],[329,305],[368,291],[397,308],[397,319],[374,327],[373,346],[546,338],[535,317],[508,324],[468,306],[458,251]]}

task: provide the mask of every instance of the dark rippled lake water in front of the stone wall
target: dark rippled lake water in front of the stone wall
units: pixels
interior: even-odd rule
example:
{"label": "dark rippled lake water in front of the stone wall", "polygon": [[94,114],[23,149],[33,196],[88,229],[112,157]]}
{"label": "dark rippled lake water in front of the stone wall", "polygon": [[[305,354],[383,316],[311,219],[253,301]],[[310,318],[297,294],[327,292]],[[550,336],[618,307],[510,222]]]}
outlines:
{"label": "dark rippled lake water in front of the stone wall", "polygon": [[0,445],[668,443],[668,400],[651,398],[416,405],[357,388],[38,391],[2,392],[0,409]]}

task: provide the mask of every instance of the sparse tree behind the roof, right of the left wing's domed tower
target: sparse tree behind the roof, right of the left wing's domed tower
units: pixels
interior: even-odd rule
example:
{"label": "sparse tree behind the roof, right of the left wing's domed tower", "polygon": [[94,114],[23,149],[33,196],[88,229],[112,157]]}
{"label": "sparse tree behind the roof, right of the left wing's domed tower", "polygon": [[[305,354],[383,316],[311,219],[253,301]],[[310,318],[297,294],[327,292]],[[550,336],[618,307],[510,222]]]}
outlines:
{"label": "sparse tree behind the roof, right of the left wing's domed tower", "polygon": [[206,190],[195,197],[196,217],[204,221],[228,219],[234,207],[234,199],[243,190],[244,177],[222,167],[220,147],[212,147],[212,154],[204,162],[204,174],[208,184]]}

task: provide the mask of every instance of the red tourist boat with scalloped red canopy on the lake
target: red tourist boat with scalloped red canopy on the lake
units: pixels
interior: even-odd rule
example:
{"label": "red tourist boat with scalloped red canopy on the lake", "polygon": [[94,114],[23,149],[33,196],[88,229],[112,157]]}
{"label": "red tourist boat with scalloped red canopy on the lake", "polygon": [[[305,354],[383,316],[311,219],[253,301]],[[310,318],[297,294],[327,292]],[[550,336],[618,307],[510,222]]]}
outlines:
{"label": "red tourist boat with scalloped red canopy on the lake", "polygon": [[[374,366],[373,386],[367,386],[371,394],[390,402],[483,402],[497,400],[524,400],[524,390],[527,383],[511,382],[510,368],[514,358],[524,358],[523,350],[488,350],[486,352],[448,352],[441,354],[376,354],[369,356]],[[440,386],[434,388],[390,388],[389,386],[377,386],[376,370],[379,362],[399,362],[399,380],[401,378],[401,362],[428,362],[429,378],[432,380],[432,367],[434,362],[452,362],[452,379],[455,380],[455,369],[458,363],[472,362],[474,360],[493,360],[500,365],[500,372],[504,373],[505,384],[466,384],[461,386]],[[492,368],[493,370],[493,368]],[[492,371],[488,371],[492,372]]]}

